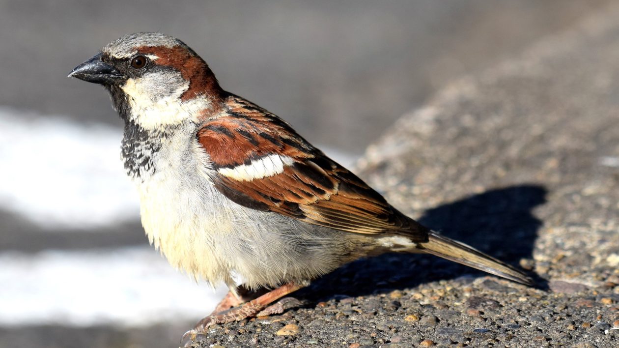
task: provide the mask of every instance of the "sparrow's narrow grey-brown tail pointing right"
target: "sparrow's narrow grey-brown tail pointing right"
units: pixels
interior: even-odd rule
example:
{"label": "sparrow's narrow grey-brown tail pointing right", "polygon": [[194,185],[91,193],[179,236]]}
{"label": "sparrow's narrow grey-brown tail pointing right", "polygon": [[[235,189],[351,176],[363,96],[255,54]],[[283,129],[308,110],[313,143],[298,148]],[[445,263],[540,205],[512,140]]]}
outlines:
{"label": "sparrow's narrow grey-brown tail pointing right", "polygon": [[450,261],[477,268],[481,271],[495,274],[495,276],[507,278],[514,282],[534,285],[533,280],[527,277],[522,271],[464,243],[444,237],[436,232],[430,232],[429,238],[430,240],[427,243],[418,243],[418,248],[428,254],[433,254]]}

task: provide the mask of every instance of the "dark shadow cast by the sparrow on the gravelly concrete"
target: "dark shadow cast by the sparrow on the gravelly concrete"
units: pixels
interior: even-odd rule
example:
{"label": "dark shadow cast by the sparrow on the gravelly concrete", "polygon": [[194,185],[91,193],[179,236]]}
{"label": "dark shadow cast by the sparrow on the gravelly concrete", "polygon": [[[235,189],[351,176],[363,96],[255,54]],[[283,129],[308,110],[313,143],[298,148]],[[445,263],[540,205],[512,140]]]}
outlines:
{"label": "dark shadow cast by the sparrow on the gravelly concrete", "polygon": [[[542,224],[532,210],[545,202],[546,194],[539,185],[492,189],[430,209],[418,221],[517,267],[521,258],[532,256]],[[347,264],[298,291],[295,297],[316,302],[381,294],[464,274],[485,273],[427,254],[389,253]],[[542,280],[537,281],[544,287]]]}

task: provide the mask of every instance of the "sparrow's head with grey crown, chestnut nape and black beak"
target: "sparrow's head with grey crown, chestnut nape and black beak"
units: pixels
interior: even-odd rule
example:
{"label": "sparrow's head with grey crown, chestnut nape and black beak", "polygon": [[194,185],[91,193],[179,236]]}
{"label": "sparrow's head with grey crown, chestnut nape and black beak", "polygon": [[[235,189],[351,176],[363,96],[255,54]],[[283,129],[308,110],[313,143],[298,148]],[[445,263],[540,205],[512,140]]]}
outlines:
{"label": "sparrow's head with grey crown, chestnut nape and black beak", "polygon": [[103,85],[121,117],[145,129],[199,118],[222,94],[204,60],[183,41],[162,33],[112,41],[69,77]]}

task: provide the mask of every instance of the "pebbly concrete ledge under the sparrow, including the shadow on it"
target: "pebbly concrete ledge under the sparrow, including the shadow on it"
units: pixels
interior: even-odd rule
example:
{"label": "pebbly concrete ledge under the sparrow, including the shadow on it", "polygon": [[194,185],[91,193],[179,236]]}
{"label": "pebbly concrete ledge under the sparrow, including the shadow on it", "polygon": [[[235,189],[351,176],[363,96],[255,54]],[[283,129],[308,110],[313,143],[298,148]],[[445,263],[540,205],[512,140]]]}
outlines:
{"label": "pebbly concrete ledge under the sparrow, including the shadow on it", "polygon": [[302,308],[213,326],[193,347],[618,346],[617,16],[454,82],[359,164],[394,206],[537,288],[387,254],[301,290]]}

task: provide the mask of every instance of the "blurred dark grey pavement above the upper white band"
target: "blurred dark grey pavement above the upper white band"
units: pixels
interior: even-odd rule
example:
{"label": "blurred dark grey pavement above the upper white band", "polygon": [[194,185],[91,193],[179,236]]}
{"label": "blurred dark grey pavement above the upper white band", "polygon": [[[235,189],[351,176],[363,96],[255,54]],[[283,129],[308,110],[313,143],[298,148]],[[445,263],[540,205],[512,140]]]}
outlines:
{"label": "blurred dark grey pavement above the upper white band", "polygon": [[115,38],[175,35],[223,87],[310,141],[360,154],[449,79],[569,26],[608,0],[0,1],[0,105],[119,124],[66,75]]}

